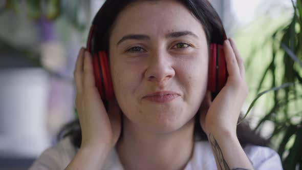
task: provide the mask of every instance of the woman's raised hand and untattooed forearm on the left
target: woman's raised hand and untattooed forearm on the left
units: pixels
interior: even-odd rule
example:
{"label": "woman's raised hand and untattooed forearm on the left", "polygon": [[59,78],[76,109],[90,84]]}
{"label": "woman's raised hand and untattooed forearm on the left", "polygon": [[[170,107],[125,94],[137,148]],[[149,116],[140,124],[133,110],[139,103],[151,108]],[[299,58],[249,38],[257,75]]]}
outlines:
{"label": "woman's raised hand and untattooed forearm on the left", "polygon": [[76,61],[74,77],[82,139],[79,151],[66,170],[100,169],[120,136],[119,105],[116,100],[110,100],[107,113],[95,86],[92,56],[83,48]]}

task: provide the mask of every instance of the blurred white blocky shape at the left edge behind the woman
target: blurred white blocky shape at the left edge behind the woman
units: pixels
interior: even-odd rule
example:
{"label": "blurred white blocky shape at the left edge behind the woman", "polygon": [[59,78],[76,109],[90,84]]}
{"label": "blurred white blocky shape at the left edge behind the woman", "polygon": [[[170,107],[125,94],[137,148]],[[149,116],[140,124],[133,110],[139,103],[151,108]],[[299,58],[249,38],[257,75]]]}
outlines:
{"label": "blurred white blocky shape at the left edge behind the woman", "polygon": [[50,145],[48,88],[41,69],[0,71],[0,156],[36,157]]}

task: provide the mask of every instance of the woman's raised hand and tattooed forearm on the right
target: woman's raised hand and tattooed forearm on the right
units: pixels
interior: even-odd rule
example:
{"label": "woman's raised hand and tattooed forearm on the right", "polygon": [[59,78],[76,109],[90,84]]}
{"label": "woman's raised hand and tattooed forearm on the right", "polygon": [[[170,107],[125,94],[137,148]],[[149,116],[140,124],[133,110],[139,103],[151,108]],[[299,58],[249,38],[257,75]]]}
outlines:
{"label": "woman's raised hand and tattooed forearm on the right", "polygon": [[236,136],[240,110],[248,94],[243,60],[234,42],[224,42],[228,79],[211,102],[210,93],[201,105],[200,124],[207,134],[218,169],[253,169]]}

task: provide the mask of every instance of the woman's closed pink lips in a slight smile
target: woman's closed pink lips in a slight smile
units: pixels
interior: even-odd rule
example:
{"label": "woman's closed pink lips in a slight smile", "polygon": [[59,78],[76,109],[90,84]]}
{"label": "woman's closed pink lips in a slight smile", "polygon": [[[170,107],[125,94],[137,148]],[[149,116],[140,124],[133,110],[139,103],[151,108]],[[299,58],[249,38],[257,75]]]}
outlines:
{"label": "woman's closed pink lips in a slight smile", "polygon": [[143,99],[153,101],[153,102],[169,102],[179,97],[180,95],[172,91],[160,91],[152,94],[148,94],[143,97]]}

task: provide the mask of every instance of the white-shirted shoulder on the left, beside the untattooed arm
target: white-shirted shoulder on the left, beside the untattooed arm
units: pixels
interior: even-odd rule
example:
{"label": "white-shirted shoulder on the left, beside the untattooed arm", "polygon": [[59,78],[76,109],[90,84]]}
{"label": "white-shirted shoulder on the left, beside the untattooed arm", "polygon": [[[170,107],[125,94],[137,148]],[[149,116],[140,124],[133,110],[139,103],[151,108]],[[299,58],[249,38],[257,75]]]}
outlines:
{"label": "white-shirted shoulder on the left, beside the untattooed arm", "polygon": [[73,159],[76,150],[70,138],[66,137],[48,148],[35,160],[29,170],[64,169]]}

